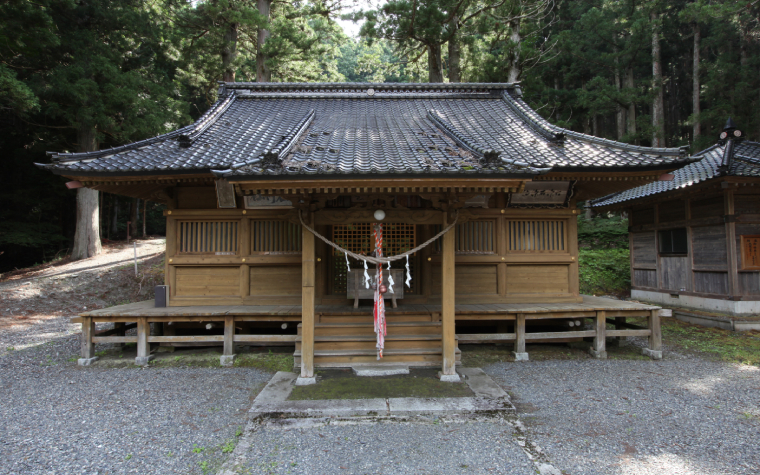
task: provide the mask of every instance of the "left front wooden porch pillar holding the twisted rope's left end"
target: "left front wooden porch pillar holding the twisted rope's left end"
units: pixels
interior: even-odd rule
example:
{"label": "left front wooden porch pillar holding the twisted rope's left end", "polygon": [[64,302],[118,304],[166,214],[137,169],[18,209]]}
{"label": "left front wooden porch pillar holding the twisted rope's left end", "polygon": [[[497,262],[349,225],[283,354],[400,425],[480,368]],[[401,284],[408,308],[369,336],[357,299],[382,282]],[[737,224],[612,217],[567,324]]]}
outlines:
{"label": "left front wooden porch pillar holding the twisted rope's left end", "polygon": [[[307,223],[312,223],[309,216]],[[302,383],[312,383],[314,378],[314,235],[301,227],[303,250],[301,252],[301,378]]]}

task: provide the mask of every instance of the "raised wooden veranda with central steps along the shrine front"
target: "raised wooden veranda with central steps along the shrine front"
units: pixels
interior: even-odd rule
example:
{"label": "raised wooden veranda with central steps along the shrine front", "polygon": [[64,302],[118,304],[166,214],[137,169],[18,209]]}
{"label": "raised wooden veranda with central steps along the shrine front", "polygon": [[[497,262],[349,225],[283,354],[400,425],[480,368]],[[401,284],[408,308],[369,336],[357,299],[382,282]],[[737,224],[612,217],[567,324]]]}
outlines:
{"label": "raised wooden veranda with central steps along the shrine front", "polygon": [[[518,360],[527,360],[526,342],[567,341],[593,338],[591,353],[606,357],[607,337],[645,336],[649,339],[645,353],[659,358],[662,350],[660,307],[634,302],[584,295],[582,302],[531,303],[531,304],[458,304],[454,306],[455,322],[463,326],[469,322],[507,322],[510,331],[501,333],[456,333],[454,361],[458,362],[457,341],[511,342]],[[401,360],[412,366],[438,366],[443,360],[442,305],[400,304],[387,309],[389,336],[387,362]],[[564,331],[526,331],[526,322],[538,320],[582,321],[577,329]],[[156,308],[153,301],[119,305],[81,314],[75,320],[82,323],[82,358],[92,358],[94,345],[101,343],[136,343],[136,363],[150,359],[150,343],[222,344],[223,356],[235,354],[236,345],[294,344],[296,364],[301,366],[307,334],[302,322],[300,305],[214,305],[193,307]],[[95,331],[95,324],[114,323],[115,328]],[[243,332],[251,323],[296,323],[298,331],[280,331],[274,334]],[[593,323],[591,329],[584,329]],[[151,336],[149,324],[163,324],[164,329],[175,323],[221,324],[223,334],[170,334]],[[308,324],[308,323],[306,323]],[[371,307],[353,308],[351,305],[316,305],[314,319],[308,333],[316,367],[353,366],[375,362],[374,333]],[[614,328],[608,328],[608,325]],[[137,335],[127,336],[130,328]],[[197,326],[196,326],[197,328]],[[203,327],[201,327],[203,328]],[[271,328],[271,326],[270,326]],[[259,330],[260,331],[260,330]]]}

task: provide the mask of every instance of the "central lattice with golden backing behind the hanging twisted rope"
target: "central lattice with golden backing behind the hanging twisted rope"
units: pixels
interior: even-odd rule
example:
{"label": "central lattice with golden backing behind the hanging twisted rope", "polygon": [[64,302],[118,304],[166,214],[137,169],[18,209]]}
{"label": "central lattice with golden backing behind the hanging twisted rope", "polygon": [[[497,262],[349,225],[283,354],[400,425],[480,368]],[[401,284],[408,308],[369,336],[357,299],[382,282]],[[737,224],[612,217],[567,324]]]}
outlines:
{"label": "central lattice with golden backing behind the hanging twisted rope", "polygon": [[[333,225],[332,240],[344,249],[359,254],[371,254],[375,250],[372,223],[353,223]],[[395,256],[416,246],[417,232],[414,224],[383,223],[383,255]],[[364,264],[350,259],[351,267],[364,268]],[[399,261],[394,268],[401,268],[406,261]],[[409,267],[415,272],[415,259],[410,258]],[[372,265],[370,265],[372,268]],[[406,276],[404,276],[406,279]],[[337,249],[333,249],[333,292],[346,292],[346,258]],[[399,283],[400,284],[400,283]],[[405,290],[412,293],[413,289]]]}

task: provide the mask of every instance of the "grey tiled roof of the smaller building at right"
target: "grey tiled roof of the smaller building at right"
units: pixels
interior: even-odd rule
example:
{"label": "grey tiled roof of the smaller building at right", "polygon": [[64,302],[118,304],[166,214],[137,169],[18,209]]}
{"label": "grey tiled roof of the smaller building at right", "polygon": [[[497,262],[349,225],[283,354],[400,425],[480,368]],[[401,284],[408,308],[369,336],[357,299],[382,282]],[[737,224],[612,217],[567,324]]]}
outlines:
{"label": "grey tiled roof of the smaller building at right", "polygon": [[734,144],[733,159],[725,174],[718,173],[723,161],[725,145],[712,147],[694,155],[699,161],[690,163],[673,172],[671,181],[655,181],[620,193],[592,200],[589,205],[594,208],[610,206],[625,201],[636,200],[670,190],[686,188],[702,183],[717,176],[747,176],[760,178],[760,143],[740,142]]}

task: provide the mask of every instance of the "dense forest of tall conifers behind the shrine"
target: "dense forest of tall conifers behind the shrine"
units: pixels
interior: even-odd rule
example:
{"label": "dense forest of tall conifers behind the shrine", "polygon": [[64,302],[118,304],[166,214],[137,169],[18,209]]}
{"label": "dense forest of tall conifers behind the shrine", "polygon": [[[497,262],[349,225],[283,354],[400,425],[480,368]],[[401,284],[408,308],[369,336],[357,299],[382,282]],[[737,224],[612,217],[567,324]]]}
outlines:
{"label": "dense forest of tall conifers behind the shrine", "polygon": [[[37,169],[47,151],[189,124],[220,80],[520,81],[561,127],[696,152],[728,116],[760,138],[759,23],[760,0],[0,0],[0,272],[72,249],[89,190]],[[104,239],[163,233],[158,204],[91,193]],[[624,230],[582,226],[581,260],[627,261],[600,239]]]}

